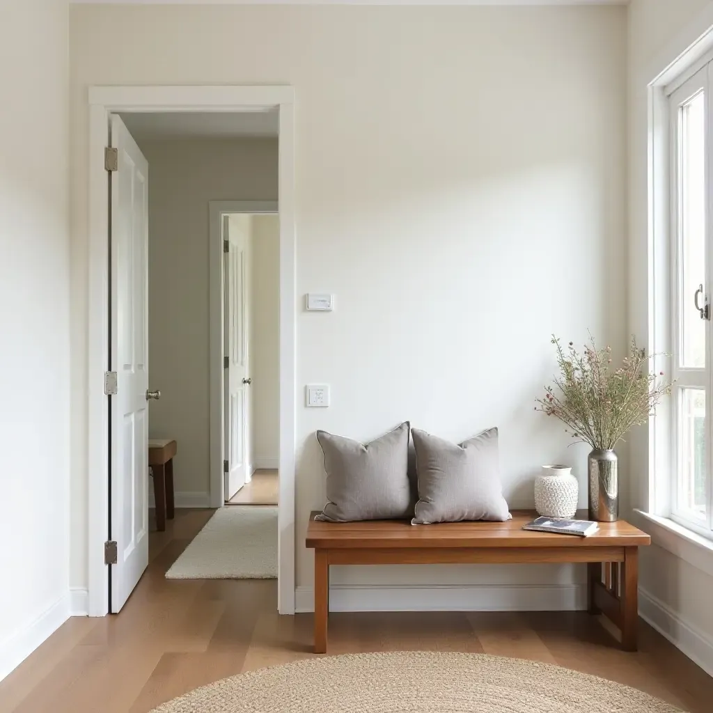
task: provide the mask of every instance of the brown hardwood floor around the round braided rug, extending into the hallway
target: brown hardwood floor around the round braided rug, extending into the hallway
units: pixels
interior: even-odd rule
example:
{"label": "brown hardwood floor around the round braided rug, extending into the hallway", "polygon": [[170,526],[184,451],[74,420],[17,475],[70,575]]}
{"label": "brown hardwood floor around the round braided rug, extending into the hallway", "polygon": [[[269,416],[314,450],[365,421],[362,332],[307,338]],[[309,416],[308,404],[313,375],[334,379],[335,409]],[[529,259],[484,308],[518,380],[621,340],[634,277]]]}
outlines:
{"label": "brown hardwood floor around the round braided rug, extending into the hallway", "polygon": [[[0,683],[0,711],[144,713],[220,678],[312,656],[312,615],[277,615],[275,580],[172,580],[165,570],[212,511],[177,511],[151,533],[148,570],[123,611],[74,618]],[[486,652],[596,674],[710,713],[713,679],[640,621],[622,652],[585,612],[404,612],[330,616],[329,654]]]}

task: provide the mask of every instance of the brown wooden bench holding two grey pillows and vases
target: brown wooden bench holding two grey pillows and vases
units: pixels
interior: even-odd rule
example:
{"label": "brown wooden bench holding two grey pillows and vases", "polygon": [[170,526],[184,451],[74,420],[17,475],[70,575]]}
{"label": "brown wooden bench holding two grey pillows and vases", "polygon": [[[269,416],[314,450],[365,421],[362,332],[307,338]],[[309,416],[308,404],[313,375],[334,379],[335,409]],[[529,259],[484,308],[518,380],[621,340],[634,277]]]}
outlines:
{"label": "brown wooden bench holding two grey pillows and vases", "polygon": [[[411,525],[404,520],[323,523],[312,513],[307,548],[314,549],[314,651],[327,651],[330,565],[443,565],[587,563],[588,609],[621,631],[622,648],[635,651],[638,620],[638,548],[651,538],[619,520],[600,523],[588,538],[523,530],[537,515],[513,511],[507,523]],[[586,519],[587,513],[577,514]]]}

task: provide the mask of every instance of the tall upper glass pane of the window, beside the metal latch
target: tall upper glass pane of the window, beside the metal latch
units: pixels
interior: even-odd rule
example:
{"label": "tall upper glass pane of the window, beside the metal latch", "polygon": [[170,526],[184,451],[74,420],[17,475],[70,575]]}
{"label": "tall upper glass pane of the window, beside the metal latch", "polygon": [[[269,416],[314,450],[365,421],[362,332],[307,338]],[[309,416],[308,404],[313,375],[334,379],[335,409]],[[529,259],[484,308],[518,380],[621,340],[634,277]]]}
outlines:
{"label": "tall upper glass pane of the window, beside the metal latch", "polygon": [[[681,366],[706,365],[705,322],[694,307],[699,284],[705,285],[705,97],[699,92],[681,109],[679,147],[679,230],[682,294]],[[703,304],[704,294],[699,295]]]}

